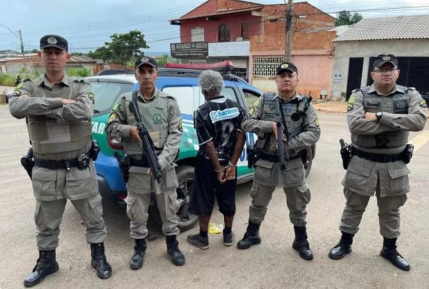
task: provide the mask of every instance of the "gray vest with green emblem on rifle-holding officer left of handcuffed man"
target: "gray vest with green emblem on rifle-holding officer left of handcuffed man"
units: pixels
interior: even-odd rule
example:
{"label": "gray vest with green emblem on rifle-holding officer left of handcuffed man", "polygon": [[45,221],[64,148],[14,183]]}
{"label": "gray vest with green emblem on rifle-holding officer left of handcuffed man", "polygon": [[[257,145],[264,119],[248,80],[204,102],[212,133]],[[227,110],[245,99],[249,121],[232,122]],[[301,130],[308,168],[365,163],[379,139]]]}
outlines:
{"label": "gray vest with green emblem on rifle-holding officer left of handcuffed man", "polygon": [[[137,101],[137,107],[140,118],[146,127],[150,138],[154,142],[156,154],[159,154],[164,148],[168,136],[168,109],[167,94],[162,91],[157,91],[154,100],[147,103]],[[133,99],[133,94],[137,100],[137,91],[126,95],[127,103]],[[136,125],[137,121],[129,105],[126,105],[127,124]],[[127,138],[124,139],[124,149],[127,155],[141,155],[142,145],[137,141]]]}

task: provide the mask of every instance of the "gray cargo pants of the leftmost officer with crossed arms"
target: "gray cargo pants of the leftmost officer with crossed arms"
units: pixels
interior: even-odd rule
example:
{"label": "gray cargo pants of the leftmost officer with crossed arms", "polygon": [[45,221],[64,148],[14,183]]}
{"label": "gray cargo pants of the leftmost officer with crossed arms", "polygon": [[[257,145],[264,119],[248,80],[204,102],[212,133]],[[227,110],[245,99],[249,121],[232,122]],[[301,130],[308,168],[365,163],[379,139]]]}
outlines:
{"label": "gray cargo pants of the leftmost officer with crossed arms", "polygon": [[39,250],[53,250],[59,246],[59,225],[67,199],[72,202],[85,225],[87,243],[104,242],[107,228],[92,162],[85,170],[71,168],[68,172],[64,169],[35,166],[32,178],[36,197],[36,242]]}

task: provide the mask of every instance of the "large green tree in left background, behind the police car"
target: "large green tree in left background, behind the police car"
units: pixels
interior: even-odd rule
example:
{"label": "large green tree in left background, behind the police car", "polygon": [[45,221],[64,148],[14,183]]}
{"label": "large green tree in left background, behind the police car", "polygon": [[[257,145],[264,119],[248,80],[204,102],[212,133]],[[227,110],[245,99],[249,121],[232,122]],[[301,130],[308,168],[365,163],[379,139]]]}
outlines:
{"label": "large green tree in left background, behind the police car", "polygon": [[103,61],[111,61],[126,65],[130,60],[142,57],[142,49],[149,48],[144,40],[144,35],[138,30],[131,30],[124,34],[113,34],[110,42],[105,42],[103,47],[90,51],[88,56]]}

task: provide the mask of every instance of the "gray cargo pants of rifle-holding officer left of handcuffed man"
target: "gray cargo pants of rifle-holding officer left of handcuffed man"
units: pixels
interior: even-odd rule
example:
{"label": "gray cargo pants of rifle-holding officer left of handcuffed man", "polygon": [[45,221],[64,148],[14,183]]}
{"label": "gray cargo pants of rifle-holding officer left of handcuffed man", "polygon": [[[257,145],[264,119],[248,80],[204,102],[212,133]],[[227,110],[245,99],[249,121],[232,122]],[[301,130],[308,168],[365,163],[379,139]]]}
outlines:
{"label": "gray cargo pants of rifle-holding officer left of handcuffed man", "polygon": [[149,168],[131,166],[127,184],[127,215],[130,218],[130,235],[134,239],[144,239],[148,235],[148,209],[151,204],[151,192],[155,193],[156,205],[162,220],[162,232],[166,236],[177,235],[177,176],[175,166],[162,171],[162,182],[158,185],[147,173]]}

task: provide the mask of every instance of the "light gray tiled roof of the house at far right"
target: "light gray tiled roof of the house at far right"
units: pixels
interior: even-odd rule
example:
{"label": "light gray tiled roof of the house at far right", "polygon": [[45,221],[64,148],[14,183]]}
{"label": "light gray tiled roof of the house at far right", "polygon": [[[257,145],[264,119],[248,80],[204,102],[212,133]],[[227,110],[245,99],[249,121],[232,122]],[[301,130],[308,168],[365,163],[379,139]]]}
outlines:
{"label": "light gray tiled roof of the house at far right", "polygon": [[364,18],[334,41],[429,39],[429,14]]}

